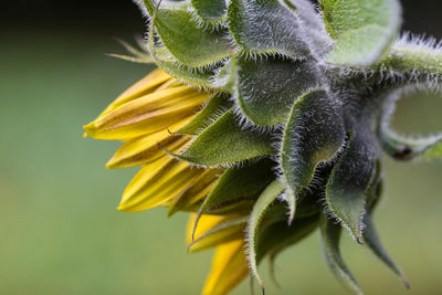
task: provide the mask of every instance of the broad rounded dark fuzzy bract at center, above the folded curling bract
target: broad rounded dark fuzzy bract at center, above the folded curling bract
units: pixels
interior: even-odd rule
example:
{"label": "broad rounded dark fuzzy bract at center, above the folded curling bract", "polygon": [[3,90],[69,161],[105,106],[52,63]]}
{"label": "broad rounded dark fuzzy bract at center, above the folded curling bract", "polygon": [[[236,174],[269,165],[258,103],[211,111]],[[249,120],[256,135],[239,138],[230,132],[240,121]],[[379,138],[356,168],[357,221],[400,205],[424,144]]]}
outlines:
{"label": "broad rounded dark fuzzy bract at center, above the folded curling bract", "polygon": [[296,98],[318,83],[316,66],[309,61],[240,59],[238,65],[238,103],[259,126],[286,122]]}

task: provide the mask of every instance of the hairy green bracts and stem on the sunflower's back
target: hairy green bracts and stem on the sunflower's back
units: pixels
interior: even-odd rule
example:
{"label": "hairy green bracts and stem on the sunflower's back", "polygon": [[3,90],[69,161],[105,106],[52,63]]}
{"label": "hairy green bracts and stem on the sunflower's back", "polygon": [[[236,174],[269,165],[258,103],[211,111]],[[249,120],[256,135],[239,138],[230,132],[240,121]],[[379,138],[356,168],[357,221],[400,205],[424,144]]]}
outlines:
{"label": "hairy green bracts and stem on the sunflower's back", "polygon": [[[150,55],[126,48],[182,83],[214,93],[177,134],[171,155],[228,168],[191,209],[233,214],[190,245],[238,239],[246,228],[252,275],[266,255],[319,228],[332,270],[360,287],[339,251],[343,229],[403,281],[380,243],[372,212],[381,193],[382,150],[399,160],[442,158],[442,135],[410,139],[389,127],[398,92],[438,89],[442,51],[397,39],[398,0],[137,1],[149,14]],[[244,218],[250,213],[250,217]],[[235,215],[236,214],[236,215]],[[406,282],[406,281],[404,281]]]}

